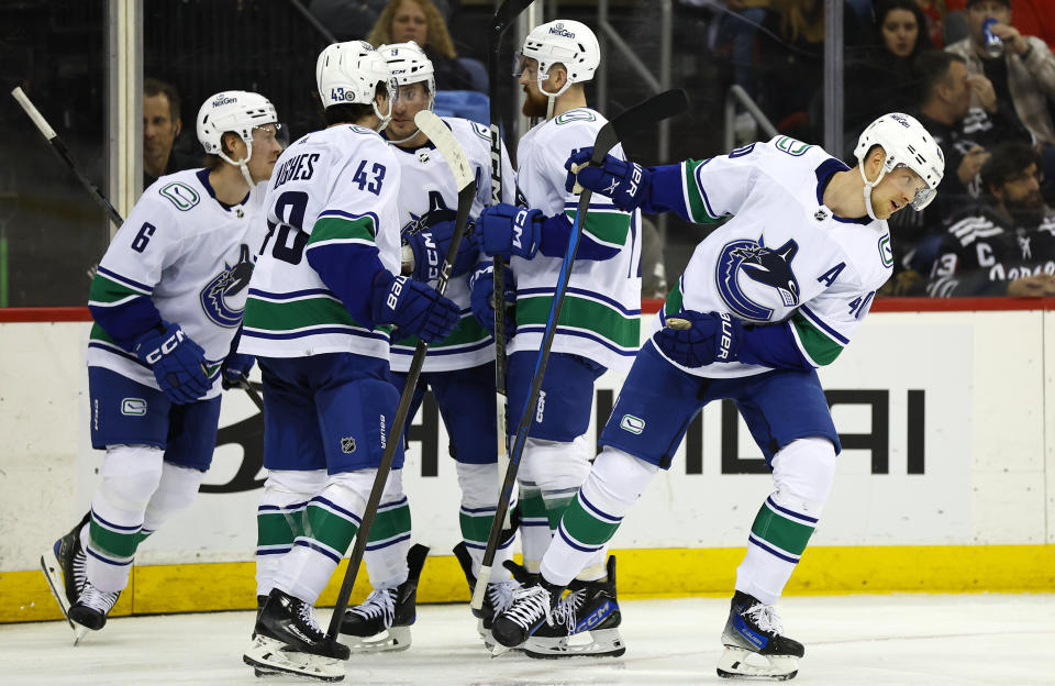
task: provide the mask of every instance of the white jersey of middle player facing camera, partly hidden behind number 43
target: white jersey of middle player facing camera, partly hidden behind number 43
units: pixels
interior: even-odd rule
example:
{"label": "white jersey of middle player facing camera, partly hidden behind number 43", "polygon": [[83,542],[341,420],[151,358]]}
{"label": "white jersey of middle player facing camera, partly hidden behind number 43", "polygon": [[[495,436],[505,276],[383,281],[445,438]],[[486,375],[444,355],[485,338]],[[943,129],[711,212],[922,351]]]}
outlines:
{"label": "white jersey of middle player facing camera, partly hidden behind number 43", "polygon": [[[465,152],[476,177],[476,198],[469,217],[479,217],[485,206],[491,204],[491,133],[490,129],[467,119],[444,118],[454,137]],[[458,190],[454,175],[438,150],[429,143],[423,147],[392,146],[401,169],[399,185],[399,221],[406,231],[420,217],[436,209],[458,209]],[[502,147],[502,202],[513,202],[517,197],[517,178],[509,156]],[[441,256],[441,259],[443,256]],[[482,259],[488,259],[482,256]],[[435,286],[435,281],[431,281]],[[454,332],[443,341],[429,345],[429,354],[422,372],[448,372],[466,369],[495,359],[493,339],[473,317],[469,305],[469,287],[466,277],[452,277],[444,294],[462,308],[462,320]],[[418,338],[411,336],[392,343],[391,367],[393,372],[410,369]]]}

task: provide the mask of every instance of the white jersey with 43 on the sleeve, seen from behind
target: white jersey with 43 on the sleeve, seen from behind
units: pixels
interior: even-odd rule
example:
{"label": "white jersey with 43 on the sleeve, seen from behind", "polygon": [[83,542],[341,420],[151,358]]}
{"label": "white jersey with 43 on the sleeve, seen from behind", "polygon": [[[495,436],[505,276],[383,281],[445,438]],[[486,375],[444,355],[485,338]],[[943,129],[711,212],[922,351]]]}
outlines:
{"label": "white jersey with 43 on the sleeve, seen from behind", "polygon": [[316,131],[282,152],[264,201],[267,236],[249,284],[240,352],[388,358],[391,328],[356,322],[304,251],[323,242],[371,245],[385,268],[399,274],[399,179],[390,146],[364,126]]}

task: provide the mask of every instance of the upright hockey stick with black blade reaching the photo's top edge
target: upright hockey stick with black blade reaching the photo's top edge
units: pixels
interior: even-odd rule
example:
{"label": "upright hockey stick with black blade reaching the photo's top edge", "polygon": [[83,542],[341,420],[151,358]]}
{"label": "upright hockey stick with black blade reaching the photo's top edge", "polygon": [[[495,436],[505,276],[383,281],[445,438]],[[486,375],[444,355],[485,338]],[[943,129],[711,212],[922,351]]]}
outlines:
{"label": "upright hockey stick with black blade reaching the photo's top edge", "polygon": [[[495,12],[491,32],[488,37],[488,98],[491,120],[491,204],[502,201],[502,133],[499,123],[501,114],[498,108],[498,65],[501,60],[502,36],[528,9],[532,0],[506,0]],[[493,259],[493,290],[491,303],[495,306],[495,430],[498,439],[498,469],[503,473],[509,465],[509,440],[506,438],[508,398],[506,391],[506,259],[496,255]],[[503,517],[504,519],[504,517]],[[480,609],[478,606],[473,606]]]}

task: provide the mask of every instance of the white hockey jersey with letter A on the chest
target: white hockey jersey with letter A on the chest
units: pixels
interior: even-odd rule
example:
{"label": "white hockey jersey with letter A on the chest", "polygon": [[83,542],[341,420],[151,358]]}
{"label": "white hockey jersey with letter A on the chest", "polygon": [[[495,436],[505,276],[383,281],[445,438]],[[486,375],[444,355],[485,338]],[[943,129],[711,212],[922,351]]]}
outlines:
{"label": "white hockey jersey with letter A on the chest", "polygon": [[[790,319],[806,358],[814,366],[832,362],[893,266],[886,221],[839,218],[823,204],[824,181],[846,168],[822,148],[787,136],[681,163],[689,218],[731,219],[696,246],[655,329],[682,307],[756,324]],[[769,370],[740,363],[681,368],[709,377]]]}

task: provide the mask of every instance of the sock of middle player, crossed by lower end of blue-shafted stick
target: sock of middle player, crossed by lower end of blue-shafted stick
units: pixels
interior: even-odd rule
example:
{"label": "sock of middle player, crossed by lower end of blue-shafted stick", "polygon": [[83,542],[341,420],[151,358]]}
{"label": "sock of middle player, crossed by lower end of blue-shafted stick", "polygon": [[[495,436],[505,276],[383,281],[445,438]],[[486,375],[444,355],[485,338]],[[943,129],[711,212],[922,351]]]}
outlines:
{"label": "sock of middle player, crossed by lower end of blue-shafted stick", "polygon": [[[498,464],[456,462],[455,469],[458,474],[458,486],[462,488],[462,507],[458,509],[462,540],[465,541],[465,546],[473,557],[473,574],[479,575],[484,552],[487,550],[487,539],[491,533],[491,521],[495,519],[495,510],[498,507],[498,489],[495,487],[498,483]],[[541,494],[538,496],[541,500]],[[510,509],[515,505],[510,502]],[[513,556],[514,538],[509,536],[506,541],[499,541],[491,567],[491,582],[509,578],[509,569],[502,563]]]}

